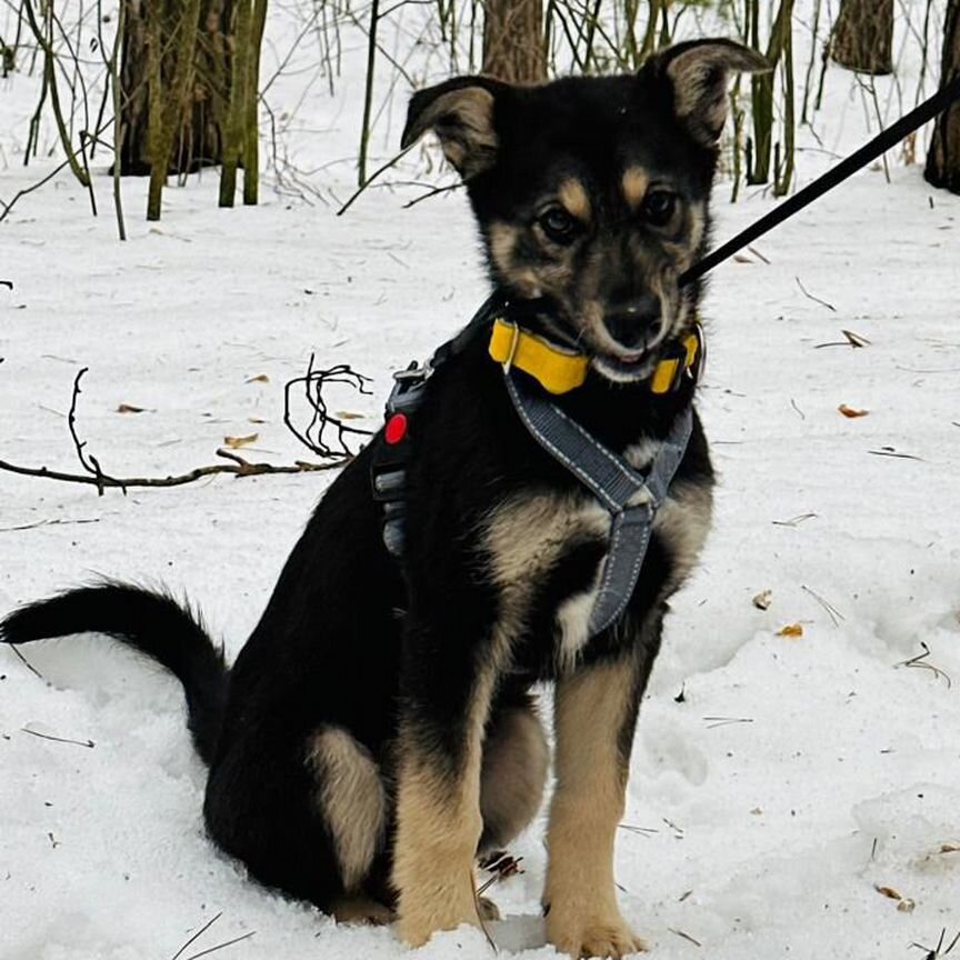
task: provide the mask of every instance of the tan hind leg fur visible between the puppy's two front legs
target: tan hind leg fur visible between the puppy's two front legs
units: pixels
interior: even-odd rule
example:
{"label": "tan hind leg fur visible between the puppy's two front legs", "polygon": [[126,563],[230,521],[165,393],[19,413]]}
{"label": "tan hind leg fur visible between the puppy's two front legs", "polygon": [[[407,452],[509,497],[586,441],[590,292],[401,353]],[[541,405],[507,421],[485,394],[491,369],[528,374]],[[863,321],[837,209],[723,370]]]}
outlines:
{"label": "tan hind leg fur visible between the puppy's two front legs", "polygon": [[537,816],[547,783],[550,748],[536,710],[501,713],[483,744],[480,852],[506,847]]}

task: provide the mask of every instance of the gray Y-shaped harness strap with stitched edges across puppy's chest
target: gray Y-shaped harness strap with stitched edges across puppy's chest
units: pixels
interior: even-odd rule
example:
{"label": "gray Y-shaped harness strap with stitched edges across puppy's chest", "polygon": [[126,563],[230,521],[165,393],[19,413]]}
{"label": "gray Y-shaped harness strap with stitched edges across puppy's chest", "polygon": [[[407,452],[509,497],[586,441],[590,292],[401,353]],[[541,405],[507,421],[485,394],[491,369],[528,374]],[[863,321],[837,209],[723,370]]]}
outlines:
{"label": "gray Y-shaped harness strap with stitched edges across puppy's chest", "polygon": [[692,408],[688,404],[677,416],[644,476],[551,403],[543,391],[529,389],[513,371],[504,371],[503,379],[533,439],[610,513],[607,559],[588,622],[589,637],[596,637],[623,613],[633,594],[653,519],[687,451]]}

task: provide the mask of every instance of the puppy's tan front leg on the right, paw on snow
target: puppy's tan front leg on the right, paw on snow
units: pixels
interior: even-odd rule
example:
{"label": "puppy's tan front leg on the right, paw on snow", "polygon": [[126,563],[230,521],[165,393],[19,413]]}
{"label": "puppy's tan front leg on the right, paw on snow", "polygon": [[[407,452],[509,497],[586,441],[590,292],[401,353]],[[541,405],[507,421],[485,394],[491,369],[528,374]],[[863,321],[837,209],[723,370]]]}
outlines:
{"label": "puppy's tan front leg on the right, paw on snow", "polygon": [[620,916],[613,882],[644,652],[623,651],[557,683],[544,907],[547,939],[571,957],[619,958],[644,949]]}

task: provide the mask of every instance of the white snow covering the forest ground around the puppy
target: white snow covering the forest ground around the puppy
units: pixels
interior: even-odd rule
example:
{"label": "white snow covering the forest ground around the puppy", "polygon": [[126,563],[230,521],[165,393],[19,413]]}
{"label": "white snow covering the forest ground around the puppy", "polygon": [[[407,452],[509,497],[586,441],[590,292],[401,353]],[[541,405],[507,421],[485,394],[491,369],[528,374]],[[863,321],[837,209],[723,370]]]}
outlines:
{"label": "white snow covering the forest ground around the puppy", "polygon": [[[278,62],[292,9],[271,14]],[[362,38],[344,28],[343,42],[333,98],[318,84],[293,110],[296,59],[271,88],[301,170],[354,149]],[[844,74],[829,79],[820,132],[846,150],[868,133],[864,111]],[[52,161],[20,166],[34,82],[6,84],[9,199]],[[398,91],[377,162],[402,109]],[[438,182],[422,157],[397,179]],[[806,182],[824,158],[799,163]],[[7,461],[76,469],[64,414],[87,366],[78,427],[108,472],[181,472],[252,432],[251,459],[291,462],[306,451],[282,423],[282,384],[311,353],[373,378],[372,396],[337,402],[374,424],[389,371],[429,353],[483,294],[460,193],[404,209],[422,187],[374,189],[337,218],[329,194],[309,206],[274,192],[268,171],[260,207],[219,211],[208,171],[171,187],[163,220],[147,224],[146,183],[128,181],[121,244],[98,170],[99,218],[61,176],[0,224],[0,279],[16,284],[0,289]],[[344,161],[303,180],[343,200],[353,176]],[[893,164],[891,179],[864,171],[763,238],[769,263],[718,268],[706,303],[713,532],[667,626],[617,849],[624,913],[664,960],[906,958],[960,929],[960,198],[917,167]],[[731,207],[728,190],[718,239],[772,202],[757,192]],[[821,346],[842,329],[869,346]],[[869,414],[844,418],[841,403]],[[236,653],[330,479],[98,498],[3,473],[0,610],[94,573],[162,581]],[[751,602],[763,590],[767,611]],[[779,633],[793,623],[801,637]],[[920,663],[942,674],[898,666],[921,644]],[[46,682],[0,649],[3,960],[173,957],[218,914],[184,958],[250,933],[220,956],[489,956],[479,931],[411,953],[389,929],[337,927],[251,883],[203,834],[203,769],[176,682],[97,637],[22,652]],[[526,872],[492,890],[507,918],[493,939],[530,960],[556,956],[539,920],[542,830],[541,817],[511,850]]]}

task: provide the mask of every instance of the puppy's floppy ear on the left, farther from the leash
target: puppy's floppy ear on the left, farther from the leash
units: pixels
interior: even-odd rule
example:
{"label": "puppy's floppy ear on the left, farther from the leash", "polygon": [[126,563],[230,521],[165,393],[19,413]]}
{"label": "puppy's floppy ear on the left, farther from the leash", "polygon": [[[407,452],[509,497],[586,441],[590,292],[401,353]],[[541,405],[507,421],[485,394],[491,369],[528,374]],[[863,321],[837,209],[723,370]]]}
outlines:
{"label": "puppy's floppy ear on the left, farther from the leash", "polygon": [[476,177],[497,159],[494,103],[506,89],[487,77],[457,77],[419,90],[410,100],[401,146],[406,150],[432,130],[460,176]]}

